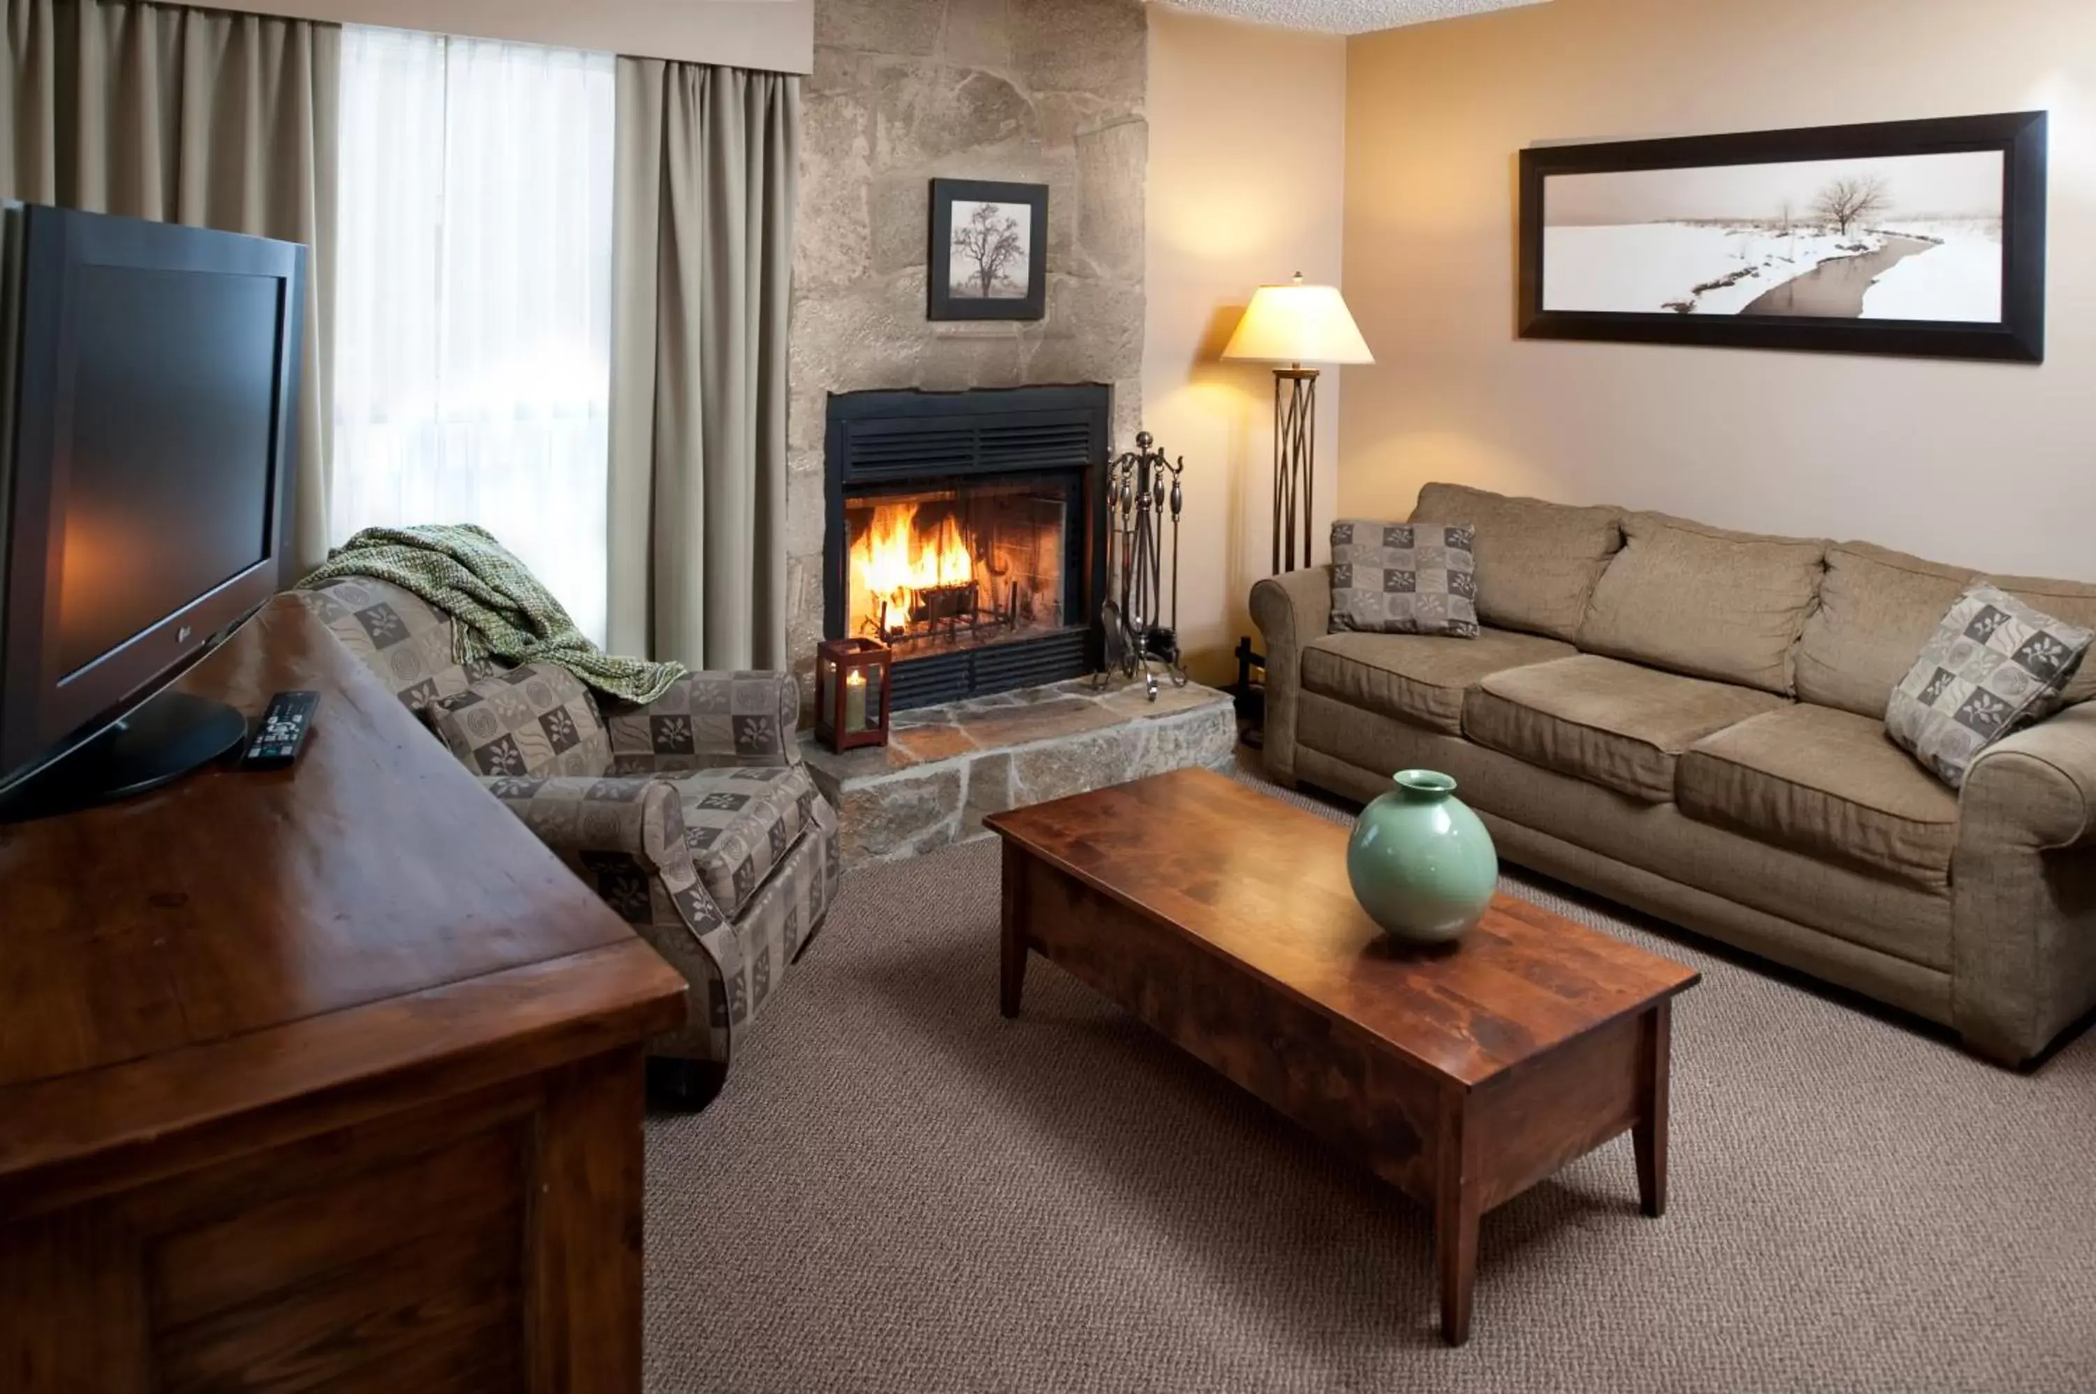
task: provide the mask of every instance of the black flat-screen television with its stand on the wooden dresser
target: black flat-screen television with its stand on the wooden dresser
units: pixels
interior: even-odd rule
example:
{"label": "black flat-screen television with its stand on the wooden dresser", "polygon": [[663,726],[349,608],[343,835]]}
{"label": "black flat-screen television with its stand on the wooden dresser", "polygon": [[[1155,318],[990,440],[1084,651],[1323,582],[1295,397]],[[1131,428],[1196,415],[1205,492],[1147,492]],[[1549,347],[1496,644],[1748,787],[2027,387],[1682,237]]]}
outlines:
{"label": "black flat-screen television with its stand on the wooden dresser", "polygon": [[19,818],[155,788],[245,736],[168,683],[283,583],[306,249],[0,218],[0,818]]}

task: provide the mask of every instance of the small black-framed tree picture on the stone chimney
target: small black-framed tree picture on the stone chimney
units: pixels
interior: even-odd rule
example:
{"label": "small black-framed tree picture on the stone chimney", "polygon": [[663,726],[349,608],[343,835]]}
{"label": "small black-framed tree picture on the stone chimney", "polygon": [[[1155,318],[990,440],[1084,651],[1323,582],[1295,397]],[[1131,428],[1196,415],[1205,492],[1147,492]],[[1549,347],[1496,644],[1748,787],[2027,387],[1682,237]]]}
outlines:
{"label": "small black-framed tree picture on the stone chimney", "polygon": [[1048,312],[1048,184],[931,182],[931,319]]}

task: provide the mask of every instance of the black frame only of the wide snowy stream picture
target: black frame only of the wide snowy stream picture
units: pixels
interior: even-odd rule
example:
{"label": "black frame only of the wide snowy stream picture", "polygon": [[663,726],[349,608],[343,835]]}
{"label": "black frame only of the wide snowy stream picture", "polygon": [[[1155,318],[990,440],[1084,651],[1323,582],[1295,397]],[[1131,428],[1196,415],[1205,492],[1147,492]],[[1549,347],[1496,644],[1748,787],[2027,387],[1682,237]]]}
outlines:
{"label": "black frame only of the wide snowy stream picture", "polygon": [[[1545,310],[1545,182],[1566,174],[1694,170],[1706,166],[2002,153],[2002,319],[1828,319]],[[1524,340],[1606,340],[1809,352],[1912,354],[2044,363],[2046,356],[2046,113],[1962,115],[1861,126],[1813,126],[1664,140],[1530,147],[1520,155],[1520,287]]]}

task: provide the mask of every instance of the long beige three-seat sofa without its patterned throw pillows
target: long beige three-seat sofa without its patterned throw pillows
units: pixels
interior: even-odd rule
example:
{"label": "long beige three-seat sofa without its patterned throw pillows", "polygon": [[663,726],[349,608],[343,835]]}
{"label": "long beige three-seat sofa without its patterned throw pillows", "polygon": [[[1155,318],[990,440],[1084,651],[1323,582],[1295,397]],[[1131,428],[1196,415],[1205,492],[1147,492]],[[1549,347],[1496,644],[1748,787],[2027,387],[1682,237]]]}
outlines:
{"label": "long beige three-seat sofa without its patterned throw pillows", "polygon": [[[1953,792],[1882,715],[1974,572],[1429,484],[1478,528],[1478,639],[1327,633],[1262,581],[1266,765],[1373,799],[1444,769],[1507,862],[1953,1027],[2002,1063],[2096,1004],[2096,660]],[[2096,627],[2096,587],[1991,576]]]}

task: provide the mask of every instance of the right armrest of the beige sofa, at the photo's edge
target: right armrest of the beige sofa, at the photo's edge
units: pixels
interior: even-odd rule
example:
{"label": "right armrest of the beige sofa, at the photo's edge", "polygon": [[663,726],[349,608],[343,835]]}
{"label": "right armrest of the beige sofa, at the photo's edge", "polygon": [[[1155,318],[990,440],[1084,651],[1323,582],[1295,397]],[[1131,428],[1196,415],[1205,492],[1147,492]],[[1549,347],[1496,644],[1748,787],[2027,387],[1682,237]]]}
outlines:
{"label": "right armrest of the beige sofa, at the photo's edge", "polygon": [[1958,799],[1951,1021],[2018,1065],[2096,1006],[2096,702],[1987,748]]}

